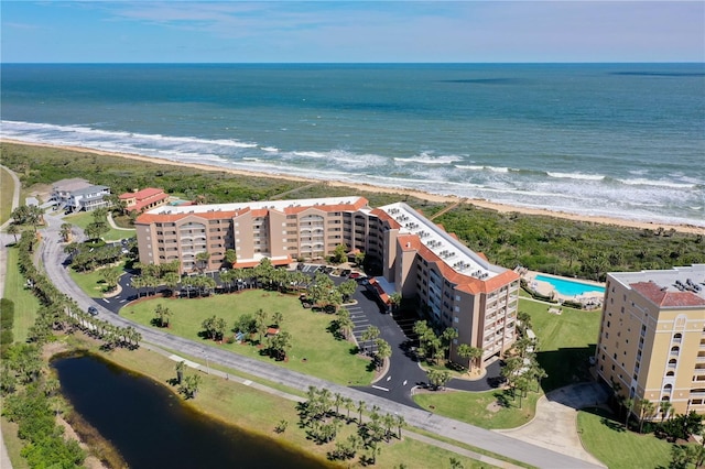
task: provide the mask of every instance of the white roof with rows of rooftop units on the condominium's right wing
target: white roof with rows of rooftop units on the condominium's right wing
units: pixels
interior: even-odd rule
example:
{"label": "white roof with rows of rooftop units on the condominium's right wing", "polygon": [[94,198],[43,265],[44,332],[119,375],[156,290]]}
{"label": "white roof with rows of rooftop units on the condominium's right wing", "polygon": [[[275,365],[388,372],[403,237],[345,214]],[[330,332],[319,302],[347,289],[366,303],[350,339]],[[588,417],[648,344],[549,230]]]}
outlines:
{"label": "white roof with rows of rooftop units on the condominium's right wing", "polygon": [[397,220],[400,233],[415,234],[421,243],[459,274],[487,281],[507,271],[491,264],[404,203],[386,205],[380,210]]}

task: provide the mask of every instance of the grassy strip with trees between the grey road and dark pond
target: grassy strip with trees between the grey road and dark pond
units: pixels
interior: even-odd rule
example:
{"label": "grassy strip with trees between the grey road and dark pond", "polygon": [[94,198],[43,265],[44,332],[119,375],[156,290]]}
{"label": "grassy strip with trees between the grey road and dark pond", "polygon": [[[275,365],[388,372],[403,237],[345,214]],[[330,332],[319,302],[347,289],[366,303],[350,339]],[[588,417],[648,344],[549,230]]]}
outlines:
{"label": "grassy strip with trees between the grey road and dark pond", "polygon": [[[161,355],[149,352],[144,348],[134,351],[118,349],[105,353],[98,352],[96,343],[86,347],[90,341],[82,336],[73,337],[69,341],[75,347],[88,348],[117,364],[148,375],[162,385],[170,386],[169,381],[176,374],[173,361]],[[186,375],[193,373],[195,373],[193,370],[185,372]],[[326,452],[334,448],[335,443],[316,445],[306,438],[305,430],[296,425],[299,416],[294,402],[234,381],[207,374],[200,375],[203,381],[198,396],[189,401],[189,405],[209,417],[229,425],[237,425],[262,437],[273,438],[282,445],[302,448],[322,459],[325,459]],[[283,434],[276,434],[273,429],[282,419],[289,422],[289,427]],[[338,439],[347,438],[347,435],[354,432],[357,432],[357,425],[355,423],[347,424],[340,430]],[[409,430],[402,430],[402,435],[406,432]],[[392,439],[391,444],[382,444],[381,448],[382,451],[378,456],[376,465],[380,468],[398,467],[401,463],[408,468],[449,468],[451,457],[458,459],[468,469],[488,467],[485,462],[464,458],[438,447],[408,438],[403,438],[401,441]],[[347,466],[340,465],[340,467]],[[354,460],[351,467],[359,467],[359,463]]]}

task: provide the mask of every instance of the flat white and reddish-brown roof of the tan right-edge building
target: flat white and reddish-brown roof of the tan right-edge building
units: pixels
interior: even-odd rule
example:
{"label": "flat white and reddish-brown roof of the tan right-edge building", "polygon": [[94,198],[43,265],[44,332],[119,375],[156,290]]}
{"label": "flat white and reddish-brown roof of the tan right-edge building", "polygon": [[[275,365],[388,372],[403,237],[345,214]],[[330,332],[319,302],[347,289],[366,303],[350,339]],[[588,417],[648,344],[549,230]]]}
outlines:
{"label": "flat white and reddish-brown roof of the tan right-edge building", "polygon": [[661,307],[705,306],[705,264],[610,273],[609,276]]}

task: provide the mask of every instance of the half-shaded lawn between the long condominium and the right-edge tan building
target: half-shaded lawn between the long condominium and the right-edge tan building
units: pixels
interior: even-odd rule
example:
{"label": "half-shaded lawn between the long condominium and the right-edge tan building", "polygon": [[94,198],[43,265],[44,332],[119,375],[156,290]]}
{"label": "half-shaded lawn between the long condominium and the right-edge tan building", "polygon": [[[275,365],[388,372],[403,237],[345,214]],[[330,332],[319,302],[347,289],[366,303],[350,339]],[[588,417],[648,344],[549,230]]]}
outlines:
{"label": "half-shaded lawn between the long condominium and the right-edge tan building", "polygon": [[519,310],[531,315],[539,338],[536,358],[549,378],[541,382],[544,392],[589,379],[587,360],[595,355],[601,313],[563,308],[562,315],[547,312],[549,305],[519,299]]}

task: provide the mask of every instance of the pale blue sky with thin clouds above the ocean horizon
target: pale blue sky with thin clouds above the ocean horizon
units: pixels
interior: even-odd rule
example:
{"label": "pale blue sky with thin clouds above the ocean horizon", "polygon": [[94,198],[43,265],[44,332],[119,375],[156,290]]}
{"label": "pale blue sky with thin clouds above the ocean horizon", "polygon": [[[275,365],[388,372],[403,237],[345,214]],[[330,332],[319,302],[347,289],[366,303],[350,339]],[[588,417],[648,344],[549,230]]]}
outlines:
{"label": "pale blue sky with thin clouds above the ocean horizon", "polygon": [[0,2],[3,63],[705,62],[696,1]]}

